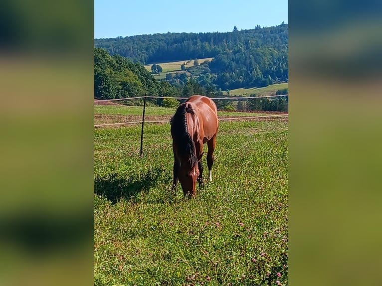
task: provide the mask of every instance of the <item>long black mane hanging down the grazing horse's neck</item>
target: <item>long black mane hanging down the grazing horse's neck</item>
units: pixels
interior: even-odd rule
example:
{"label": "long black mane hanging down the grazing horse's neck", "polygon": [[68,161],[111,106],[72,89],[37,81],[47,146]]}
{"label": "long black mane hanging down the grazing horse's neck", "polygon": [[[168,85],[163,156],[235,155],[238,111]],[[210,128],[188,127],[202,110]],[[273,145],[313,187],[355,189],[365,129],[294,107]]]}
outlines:
{"label": "long black mane hanging down the grazing horse's neck", "polygon": [[183,158],[188,158],[189,165],[193,168],[197,164],[197,158],[195,143],[187,129],[187,113],[190,113],[193,117],[195,116],[191,105],[185,102],[178,107],[171,119],[171,135],[177,146],[178,154]]}

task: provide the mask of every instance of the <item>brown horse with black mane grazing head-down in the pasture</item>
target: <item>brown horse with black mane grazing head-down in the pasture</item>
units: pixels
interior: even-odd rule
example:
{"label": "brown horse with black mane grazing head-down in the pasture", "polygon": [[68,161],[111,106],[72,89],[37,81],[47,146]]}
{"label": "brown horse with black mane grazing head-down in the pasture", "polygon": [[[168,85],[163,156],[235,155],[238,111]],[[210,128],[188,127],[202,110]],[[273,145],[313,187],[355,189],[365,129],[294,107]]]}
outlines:
{"label": "brown horse with black mane grazing head-down in the pasture", "polygon": [[208,97],[191,96],[182,103],[171,119],[171,136],[174,151],[174,182],[178,179],[184,195],[189,198],[196,194],[196,180],[202,184],[203,144],[207,143],[208,178],[212,181],[212,164],[214,161],[216,133],[219,127],[215,103]]}

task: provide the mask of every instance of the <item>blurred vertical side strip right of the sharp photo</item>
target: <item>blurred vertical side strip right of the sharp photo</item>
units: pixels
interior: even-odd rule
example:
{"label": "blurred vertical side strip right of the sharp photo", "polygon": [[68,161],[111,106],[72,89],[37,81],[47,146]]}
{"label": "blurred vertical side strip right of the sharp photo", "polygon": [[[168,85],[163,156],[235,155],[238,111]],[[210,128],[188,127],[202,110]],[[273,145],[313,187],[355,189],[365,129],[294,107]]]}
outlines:
{"label": "blurred vertical side strip right of the sharp photo", "polygon": [[289,279],[380,284],[381,2],[289,1]]}

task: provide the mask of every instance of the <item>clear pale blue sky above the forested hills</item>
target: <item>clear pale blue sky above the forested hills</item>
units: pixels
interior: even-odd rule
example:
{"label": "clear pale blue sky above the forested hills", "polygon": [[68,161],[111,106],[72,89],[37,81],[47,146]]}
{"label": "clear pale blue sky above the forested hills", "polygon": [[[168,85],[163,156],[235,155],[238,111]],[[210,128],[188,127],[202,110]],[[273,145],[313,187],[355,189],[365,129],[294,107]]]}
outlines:
{"label": "clear pale blue sky above the forested hills", "polygon": [[94,0],[94,38],[288,23],[288,0]]}

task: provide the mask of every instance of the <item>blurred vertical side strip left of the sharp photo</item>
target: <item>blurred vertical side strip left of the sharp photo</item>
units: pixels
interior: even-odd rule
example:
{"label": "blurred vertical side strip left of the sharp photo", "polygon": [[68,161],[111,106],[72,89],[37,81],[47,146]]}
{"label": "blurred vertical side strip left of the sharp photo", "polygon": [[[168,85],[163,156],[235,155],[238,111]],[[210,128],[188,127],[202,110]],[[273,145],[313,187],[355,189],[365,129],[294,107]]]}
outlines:
{"label": "blurred vertical side strip left of the sharp photo", "polygon": [[0,285],[94,283],[93,5],[0,3]]}

